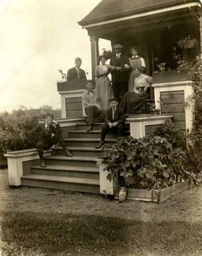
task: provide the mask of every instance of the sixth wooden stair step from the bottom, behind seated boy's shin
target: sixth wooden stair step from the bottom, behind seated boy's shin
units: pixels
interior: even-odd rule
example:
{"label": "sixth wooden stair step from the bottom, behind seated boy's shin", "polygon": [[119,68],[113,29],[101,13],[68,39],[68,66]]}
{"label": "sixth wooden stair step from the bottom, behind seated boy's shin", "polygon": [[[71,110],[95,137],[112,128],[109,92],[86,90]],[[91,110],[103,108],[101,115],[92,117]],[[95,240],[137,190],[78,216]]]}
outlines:
{"label": "sixth wooden stair step from the bottom, behind seated boy's shin", "polygon": [[[86,132],[86,130],[77,130],[68,132],[69,138],[100,138],[101,131],[93,130],[91,132]],[[117,138],[117,134],[107,133],[105,138]]]}

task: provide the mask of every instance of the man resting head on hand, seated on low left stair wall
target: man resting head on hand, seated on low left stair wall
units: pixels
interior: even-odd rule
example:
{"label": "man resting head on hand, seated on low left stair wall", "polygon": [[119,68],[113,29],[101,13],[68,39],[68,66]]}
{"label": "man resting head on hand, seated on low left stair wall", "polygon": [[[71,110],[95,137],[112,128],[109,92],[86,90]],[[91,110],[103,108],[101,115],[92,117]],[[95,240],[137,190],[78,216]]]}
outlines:
{"label": "man resting head on hand, seated on low left stair wall", "polygon": [[40,165],[42,167],[46,167],[46,163],[43,159],[43,150],[52,147],[54,144],[59,143],[64,149],[66,156],[73,156],[67,149],[64,139],[61,136],[62,130],[60,125],[53,119],[54,116],[52,114],[46,115],[44,123],[37,124],[37,126],[29,132],[29,139],[33,140],[36,144],[40,156]]}

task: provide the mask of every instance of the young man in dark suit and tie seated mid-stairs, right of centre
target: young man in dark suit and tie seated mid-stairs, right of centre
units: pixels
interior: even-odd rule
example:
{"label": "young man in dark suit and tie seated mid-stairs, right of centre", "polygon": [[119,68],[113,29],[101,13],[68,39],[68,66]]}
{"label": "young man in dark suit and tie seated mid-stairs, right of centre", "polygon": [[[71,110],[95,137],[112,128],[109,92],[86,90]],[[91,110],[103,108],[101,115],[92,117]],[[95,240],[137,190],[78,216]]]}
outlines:
{"label": "young man in dark suit and tie seated mid-stairs, right of centre", "polygon": [[111,97],[109,106],[110,109],[107,110],[105,123],[101,126],[101,141],[95,148],[100,148],[105,144],[105,135],[108,131],[117,133],[119,137],[123,136],[124,124],[126,121],[123,109],[118,107],[118,100],[116,97]]}

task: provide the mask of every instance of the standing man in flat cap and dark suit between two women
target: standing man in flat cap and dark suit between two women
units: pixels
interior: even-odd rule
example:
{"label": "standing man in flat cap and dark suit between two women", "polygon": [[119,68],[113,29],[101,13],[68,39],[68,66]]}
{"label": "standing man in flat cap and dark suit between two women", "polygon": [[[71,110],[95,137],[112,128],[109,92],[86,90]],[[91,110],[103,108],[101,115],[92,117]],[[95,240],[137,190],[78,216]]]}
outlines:
{"label": "standing man in flat cap and dark suit between two women", "polygon": [[120,96],[128,91],[129,58],[122,54],[123,46],[120,44],[115,44],[113,48],[114,54],[111,56],[109,68],[114,97],[120,101]]}

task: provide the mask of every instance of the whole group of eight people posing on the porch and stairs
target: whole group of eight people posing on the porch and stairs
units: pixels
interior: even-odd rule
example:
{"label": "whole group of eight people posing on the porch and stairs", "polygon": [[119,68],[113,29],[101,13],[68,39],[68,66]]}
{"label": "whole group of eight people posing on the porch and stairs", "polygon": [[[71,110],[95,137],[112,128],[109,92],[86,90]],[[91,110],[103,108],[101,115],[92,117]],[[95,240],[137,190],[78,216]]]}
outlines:
{"label": "whole group of eight people posing on the porch and stairs", "polygon": [[[93,130],[93,124],[103,122],[101,126],[100,143],[95,148],[105,144],[105,135],[108,131],[123,135],[125,114],[135,111],[141,112],[144,100],[147,99],[148,88],[152,77],[145,74],[146,65],[144,58],[138,56],[138,47],[130,49],[129,58],[123,55],[123,46],[114,45],[114,54],[110,63],[106,64],[105,55],[100,56],[100,65],[95,68],[96,85],[92,80],[87,80],[85,71],[82,70],[82,59],[76,58],[75,67],[67,71],[67,82],[85,82],[86,90],[82,94],[82,104],[87,115],[88,129]],[[111,73],[111,81],[108,74]],[[46,167],[43,159],[43,150],[59,143],[66,156],[73,156],[68,150],[61,135],[61,127],[52,115],[47,115],[45,122],[37,124],[31,130],[40,156],[40,164]]]}

